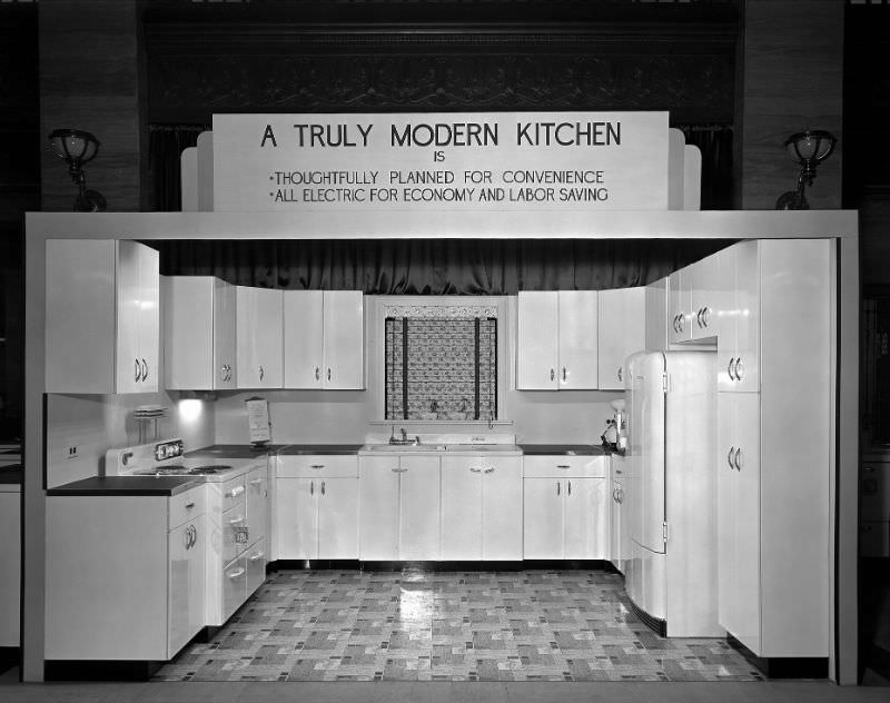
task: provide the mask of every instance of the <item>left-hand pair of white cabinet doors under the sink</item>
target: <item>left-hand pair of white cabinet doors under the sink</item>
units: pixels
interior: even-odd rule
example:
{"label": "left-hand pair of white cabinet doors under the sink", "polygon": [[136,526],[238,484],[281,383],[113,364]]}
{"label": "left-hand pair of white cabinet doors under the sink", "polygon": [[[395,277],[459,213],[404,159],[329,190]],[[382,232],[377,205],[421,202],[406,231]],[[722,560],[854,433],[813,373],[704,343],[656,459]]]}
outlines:
{"label": "left-hand pair of white cabinet doors under the sink", "polygon": [[358,461],[359,558],[439,558],[439,457],[363,456]]}

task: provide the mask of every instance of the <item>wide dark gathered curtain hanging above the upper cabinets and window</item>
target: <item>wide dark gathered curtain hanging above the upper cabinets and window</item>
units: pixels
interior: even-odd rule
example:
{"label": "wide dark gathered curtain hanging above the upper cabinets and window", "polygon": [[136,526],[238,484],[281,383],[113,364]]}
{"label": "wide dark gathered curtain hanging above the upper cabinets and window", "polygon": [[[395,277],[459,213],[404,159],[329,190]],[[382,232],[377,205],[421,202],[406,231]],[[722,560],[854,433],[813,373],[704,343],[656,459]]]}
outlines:
{"label": "wide dark gathered curtain hanging above the upper cabinets and window", "polygon": [[695,239],[170,240],[161,274],[367,295],[513,295],[642,286],[722,249]]}

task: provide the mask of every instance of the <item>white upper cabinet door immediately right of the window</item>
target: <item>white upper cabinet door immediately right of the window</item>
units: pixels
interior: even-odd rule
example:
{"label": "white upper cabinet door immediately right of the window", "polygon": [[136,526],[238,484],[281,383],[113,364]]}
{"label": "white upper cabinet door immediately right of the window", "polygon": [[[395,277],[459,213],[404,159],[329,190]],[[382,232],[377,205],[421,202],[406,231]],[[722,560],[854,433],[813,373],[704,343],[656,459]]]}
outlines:
{"label": "white upper cabinet door immediately right of the window", "polygon": [[558,294],[520,291],[516,301],[516,388],[556,390],[558,359]]}

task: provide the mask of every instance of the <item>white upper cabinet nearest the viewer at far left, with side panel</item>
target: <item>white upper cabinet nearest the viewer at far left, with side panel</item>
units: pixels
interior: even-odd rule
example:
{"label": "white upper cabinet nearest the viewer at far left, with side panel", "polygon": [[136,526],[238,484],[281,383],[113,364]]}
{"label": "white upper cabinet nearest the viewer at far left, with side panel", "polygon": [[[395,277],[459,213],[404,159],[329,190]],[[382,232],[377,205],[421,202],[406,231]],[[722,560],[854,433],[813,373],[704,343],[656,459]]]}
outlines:
{"label": "white upper cabinet nearest the viewer at far left, with side panel", "polygon": [[158,253],[136,241],[47,241],[47,393],[152,393]]}

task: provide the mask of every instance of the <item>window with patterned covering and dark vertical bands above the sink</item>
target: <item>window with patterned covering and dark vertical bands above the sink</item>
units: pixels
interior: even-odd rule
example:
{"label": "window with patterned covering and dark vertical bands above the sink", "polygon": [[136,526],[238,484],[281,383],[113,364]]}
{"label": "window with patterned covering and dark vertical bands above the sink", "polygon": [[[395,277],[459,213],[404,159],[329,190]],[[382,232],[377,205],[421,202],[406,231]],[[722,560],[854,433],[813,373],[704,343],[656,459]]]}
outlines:
{"label": "window with patterned covering and dark vertical bands above the sink", "polygon": [[497,318],[387,316],[386,419],[497,418]]}

